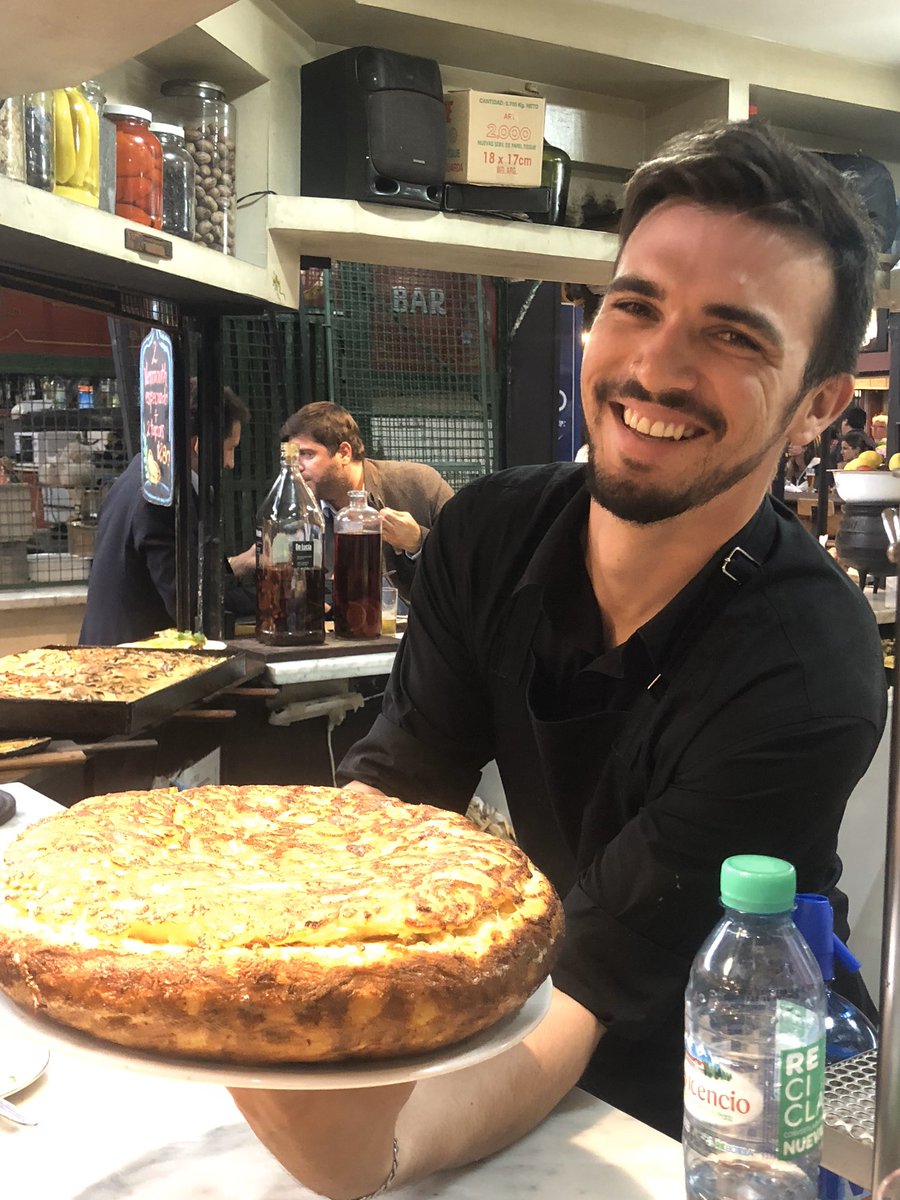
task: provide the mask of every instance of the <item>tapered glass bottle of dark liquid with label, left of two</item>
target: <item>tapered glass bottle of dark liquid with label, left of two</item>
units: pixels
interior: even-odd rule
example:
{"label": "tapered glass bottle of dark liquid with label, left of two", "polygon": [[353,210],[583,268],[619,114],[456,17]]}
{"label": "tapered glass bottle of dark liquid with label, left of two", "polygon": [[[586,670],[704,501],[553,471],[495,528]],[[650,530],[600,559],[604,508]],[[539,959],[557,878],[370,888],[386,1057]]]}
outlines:
{"label": "tapered glass bottle of dark liquid with label, left of two", "polygon": [[300,474],[298,448],[257,515],[257,638],[269,646],[325,641],[325,518]]}

